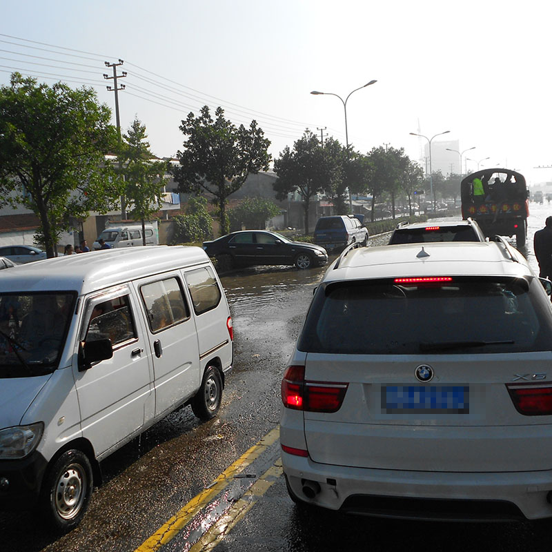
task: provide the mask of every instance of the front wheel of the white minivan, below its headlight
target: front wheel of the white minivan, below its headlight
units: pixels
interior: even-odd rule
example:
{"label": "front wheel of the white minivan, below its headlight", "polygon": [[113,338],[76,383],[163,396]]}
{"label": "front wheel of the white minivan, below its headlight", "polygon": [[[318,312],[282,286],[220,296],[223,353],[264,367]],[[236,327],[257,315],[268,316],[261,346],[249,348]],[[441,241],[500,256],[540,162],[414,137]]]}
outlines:
{"label": "front wheel of the white minivan, below its headlight", "polygon": [[92,496],[90,460],[77,450],[64,452],[48,469],[40,497],[44,521],[66,533],[82,520]]}

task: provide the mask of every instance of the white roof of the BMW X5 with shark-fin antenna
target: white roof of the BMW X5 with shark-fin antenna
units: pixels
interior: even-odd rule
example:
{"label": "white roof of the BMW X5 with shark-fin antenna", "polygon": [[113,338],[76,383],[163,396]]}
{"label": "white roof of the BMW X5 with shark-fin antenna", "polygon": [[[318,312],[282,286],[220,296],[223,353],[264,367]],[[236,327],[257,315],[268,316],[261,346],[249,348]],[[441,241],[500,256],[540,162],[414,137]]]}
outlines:
{"label": "white roof of the BMW X5 with shark-fin antenna", "polygon": [[502,243],[426,242],[352,249],[328,268],[324,282],[449,275],[534,276],[521,253]]}

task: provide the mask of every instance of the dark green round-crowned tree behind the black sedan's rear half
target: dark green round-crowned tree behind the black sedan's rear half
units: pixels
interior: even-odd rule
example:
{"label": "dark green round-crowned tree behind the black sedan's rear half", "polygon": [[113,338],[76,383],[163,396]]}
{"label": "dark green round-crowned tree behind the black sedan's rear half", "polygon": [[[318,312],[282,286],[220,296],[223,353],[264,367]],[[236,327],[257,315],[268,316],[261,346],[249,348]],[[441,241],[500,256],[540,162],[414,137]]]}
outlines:
{"label": "dark green round-crowned tree behind the black sedan's rear half", "polygon": [[190,112],[182,121],[180,130],[188,138],[184,150],[177,153],[180,166],[172,171],[182,192],[213,195],[221,232],[226,234],[226,198],[242,187],[248,175],[268,169],[270,140],[264,137],[257,121],[251,121],[249,128],[236,128],[224,118],[220,107],[215,117],[213,120],[208,106],[204,106],[199,117]]}

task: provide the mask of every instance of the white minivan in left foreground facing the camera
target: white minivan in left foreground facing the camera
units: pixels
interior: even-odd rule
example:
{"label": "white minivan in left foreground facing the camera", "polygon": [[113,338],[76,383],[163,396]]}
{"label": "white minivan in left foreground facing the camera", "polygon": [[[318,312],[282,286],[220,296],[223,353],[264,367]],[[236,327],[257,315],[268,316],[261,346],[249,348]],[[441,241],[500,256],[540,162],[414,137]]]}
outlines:
{"label": "white minivan in left foreground facing the camera", "polygon": [[207,420],[233,326],[206,253],[68,255],[0,274],[0,508],[39,504],[66,531],[99,462],[175,408]]}

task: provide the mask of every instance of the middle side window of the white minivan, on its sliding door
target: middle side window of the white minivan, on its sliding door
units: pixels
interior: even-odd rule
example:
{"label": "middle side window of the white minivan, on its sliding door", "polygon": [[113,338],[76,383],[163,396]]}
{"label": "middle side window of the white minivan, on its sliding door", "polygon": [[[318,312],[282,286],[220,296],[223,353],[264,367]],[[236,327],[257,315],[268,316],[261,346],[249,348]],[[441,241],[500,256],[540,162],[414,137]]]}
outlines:
{"label": "middle side window of the white minivan, on its sliding door", "polygon": [[190,318],[190,310],[177,278],[144,284],[140,287],[140,293],[152,333]]}

